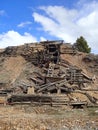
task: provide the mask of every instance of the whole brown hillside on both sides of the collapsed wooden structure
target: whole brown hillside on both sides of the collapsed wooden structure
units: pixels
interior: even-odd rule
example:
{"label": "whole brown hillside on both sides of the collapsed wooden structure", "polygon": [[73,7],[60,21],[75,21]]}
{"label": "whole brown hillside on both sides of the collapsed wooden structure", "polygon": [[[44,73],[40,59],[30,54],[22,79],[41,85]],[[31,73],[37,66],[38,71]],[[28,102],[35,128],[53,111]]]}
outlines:
{"label": "whole brown hillside on both sides of the collapsed wooden structure", "polygon": [[[42,43],[43,44],[43,43]],[[39,83],[39,85],[44,84],[45,73],[43,71],[47,70],[46,63],[41,63],[40,65],[36,65],[38,62],[37,51],[42,58],[41,53],[44,49],[42,44],[31,43],[24,44],[22,46],[15,47],[7,47],[4,50],[0,50],[0,89],[10,89],[14,88],[15,93],[26,92],[28,87],[35,87],[35,82]],[[61,71],[65,74],[64,71],[70,68],[77,68],[82,70],[82,74],[86,77],[86,83],[84,83],[84,88],[90,89],[98,89],[98,56],[93,54],[86,53],[69,53],[64,52],[64,48],[68,48],[66,44],[61,45],[61,55],[60,59],[63,61],[59,65]],[[58,56],[58,55],[57,55]],[[39,59],[40,60],[40,59]],[[41,66],[43,65],[43,67]],[[64,67],[64,66],[67,66]],[[57,69],[55,69],[55,75],[58,74]],[[63,76],[63,75],[61,75]],[[59,78],[58,78],[59,79]],[[89,81],[91,82],[89,83]],[[47,81],[48,83],[48,81]],[[47,84],[46,84],[47,85]],[[64,84],[63,84],[64,85]],[[77,87],[76,84],[71,85],[68,83],[68,87],[70,89]],[[63,88],[65,89],[65,88]],[[40,90],[35,91],[40,92]],[[46,91],[46,90],[45,90]],[[50,91],[50,90],[49,90]],[[54,92],[55,89],[51,90]],[[65,90],[62,90],[65,91]],[[98,99],[98,91],[96,92],[88,92],[88,94],[92,95],[96,99]],[[68,95],[68,98],[72,100],[82,99],[87,100],[87,95],[79,92],[79,93],[71,93]]]}

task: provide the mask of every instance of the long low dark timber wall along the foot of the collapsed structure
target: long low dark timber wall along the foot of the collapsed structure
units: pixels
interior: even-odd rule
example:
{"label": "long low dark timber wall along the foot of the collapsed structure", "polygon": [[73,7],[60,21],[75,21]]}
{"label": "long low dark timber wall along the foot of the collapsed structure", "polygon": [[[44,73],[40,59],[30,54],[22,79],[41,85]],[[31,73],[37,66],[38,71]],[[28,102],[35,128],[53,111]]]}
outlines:
{"label": "long low dark timber wall along the foot of the collapsed structure", "polygon": [[81,108],[87,105],[87,102],[70,102],[66,95],[11,95],[8,98],[8,104],[31,104],[31,105],[50,105],[50,106],[61,106],[68,105],[73,106],[73,108]]}

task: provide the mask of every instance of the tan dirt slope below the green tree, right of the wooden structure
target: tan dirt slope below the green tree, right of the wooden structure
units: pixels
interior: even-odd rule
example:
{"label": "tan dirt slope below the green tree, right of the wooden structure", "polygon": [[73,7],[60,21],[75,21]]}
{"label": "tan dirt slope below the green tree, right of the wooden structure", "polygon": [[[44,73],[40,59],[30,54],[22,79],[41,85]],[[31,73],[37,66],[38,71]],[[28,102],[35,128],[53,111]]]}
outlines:
{"label": "tan dirt slope below the green tree, right of the wooden structure", "polygon": [[82,71],[88,75],[89,77],[93,78],[96,77],[96,83],[98,83],[98,57],[93,56],[91,61],[85,58],[91,58],[91,55],[86,53],[78,52],[76,55],[69,55],[69,54],[62,54],[61,58],[69,62],[73,66],[77,66],[78,68],[82,69]]}

